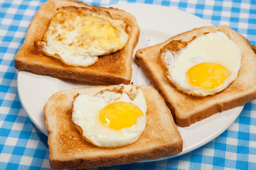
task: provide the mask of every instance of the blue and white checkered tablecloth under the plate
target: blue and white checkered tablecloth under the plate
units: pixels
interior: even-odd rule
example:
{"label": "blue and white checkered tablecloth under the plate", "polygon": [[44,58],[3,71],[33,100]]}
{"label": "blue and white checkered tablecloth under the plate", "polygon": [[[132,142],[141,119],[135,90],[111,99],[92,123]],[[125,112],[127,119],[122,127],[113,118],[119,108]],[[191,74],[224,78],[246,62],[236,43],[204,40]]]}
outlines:
{"label": "blue and white checkered tablecloth under the plate", "polygon": [[[38,130],[21,106],[14,56],[26,30],[45,0],[0,0],[0,169],[50,169],[48,137]],[[90,5],[144,3],[172,6],[213,25],[228,25],[256,43],[256,1],[88,0]],[[142,9],[143,12],[143,9]],[[193,152],[159,162],[99,169],[256,169],[256,101],[215,140]]]}

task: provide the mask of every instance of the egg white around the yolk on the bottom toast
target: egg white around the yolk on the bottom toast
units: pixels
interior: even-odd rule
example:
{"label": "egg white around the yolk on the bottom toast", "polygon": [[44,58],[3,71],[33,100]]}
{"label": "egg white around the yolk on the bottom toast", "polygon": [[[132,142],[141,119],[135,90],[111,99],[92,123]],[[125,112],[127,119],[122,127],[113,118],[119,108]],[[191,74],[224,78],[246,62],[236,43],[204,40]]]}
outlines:
{"label": "egg white around the yolk on the bottom toast", "polygon": [[[109,103],[126,101],[138,106],[144,115],[137,118],[137,123],[129,128],[113,130],[102,125],[99,113]],[[73,123],[82,128],[82,135],[99,147],[120,147],[129,145],[139,138],[146,126],[146,100],[142,89],[137,89],[137,95],[132,100],[126,92],[103,91],[97,96],[79,94],[73,102]]]}

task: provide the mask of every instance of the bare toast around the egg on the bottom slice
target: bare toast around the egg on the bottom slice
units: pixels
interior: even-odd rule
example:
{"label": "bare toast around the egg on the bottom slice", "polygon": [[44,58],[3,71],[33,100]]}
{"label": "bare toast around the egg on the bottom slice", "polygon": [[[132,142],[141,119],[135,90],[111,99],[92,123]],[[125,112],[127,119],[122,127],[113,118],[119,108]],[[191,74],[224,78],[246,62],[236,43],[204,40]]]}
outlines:
{"label": "bare toast around the egg on the bottom slice", "polygon": [[182,151],[183,141],[169,108],[158,91],[141,86],[146,99],[146,128],[139,139],[127,146],[97,147],[82,139],[71,120],[73,98],[78,93],[95,95],[114,86],[91,86],[59,91],[44,107],[52,169],[83,169],[130,164]]}

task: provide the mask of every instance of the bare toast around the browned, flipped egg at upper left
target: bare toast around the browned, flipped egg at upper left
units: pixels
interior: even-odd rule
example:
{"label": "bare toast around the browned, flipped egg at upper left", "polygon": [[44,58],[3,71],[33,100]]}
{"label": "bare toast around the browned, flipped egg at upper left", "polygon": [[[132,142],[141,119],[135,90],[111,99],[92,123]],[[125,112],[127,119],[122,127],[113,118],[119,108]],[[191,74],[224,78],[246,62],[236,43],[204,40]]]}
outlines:
{"label": "bare toast around the browned, flipped egg at upper left", "polygon": [[[38,52],[34,43],[42,40],[50,24],[50,18],[52,18],[57,8],[62,6],[97,8],[97,11],[109,12],[112,18],[120,19],[129,26],[127,44],[122,50],[110,55],[100,56],[97,62],[90,67],[70,66],[54,57],[45,55],[43,52]],[[129,84],[132,79],[132,55],[138,40],[139,26],[136,18],[126,11],[111,7],[88,6],[80,1],[73,0],[49,0],[42,4],[33,17],[23,45],[14,58],[14,64],[18,70],[57,78],[76,79],[92,84]]]}

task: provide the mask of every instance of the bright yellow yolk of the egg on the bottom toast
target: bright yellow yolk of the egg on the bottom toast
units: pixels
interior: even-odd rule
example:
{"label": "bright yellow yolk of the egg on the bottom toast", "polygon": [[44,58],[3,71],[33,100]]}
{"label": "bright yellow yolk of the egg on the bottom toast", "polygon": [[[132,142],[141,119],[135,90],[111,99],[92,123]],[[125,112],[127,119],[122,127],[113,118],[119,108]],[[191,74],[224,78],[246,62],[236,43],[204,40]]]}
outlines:
{"label": "bright yellow yolk of the egg on the bottom toast", "polygon": [[99,117],[103,125],[114,130],[121,130],[135,125],[140,115],[143,115],[143,112],[138,106],[119,101],[102,108]]}

